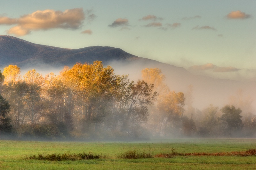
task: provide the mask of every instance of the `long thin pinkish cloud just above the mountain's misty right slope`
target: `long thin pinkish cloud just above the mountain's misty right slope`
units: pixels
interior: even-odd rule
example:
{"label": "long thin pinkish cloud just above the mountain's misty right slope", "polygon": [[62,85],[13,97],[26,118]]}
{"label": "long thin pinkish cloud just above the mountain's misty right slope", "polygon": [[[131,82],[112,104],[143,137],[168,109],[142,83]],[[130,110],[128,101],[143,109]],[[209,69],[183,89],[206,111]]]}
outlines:
{"label": "long thin pinkish cloud just above the mountain's misty right slope", "polygon": [[212,63],[207,63],[204,65],[195,65],[188,68],[192,71],[206,71],[206,70],[212,70],[213,72],[236,72],[239,71],[239,68],[235,67],[219,67]]}

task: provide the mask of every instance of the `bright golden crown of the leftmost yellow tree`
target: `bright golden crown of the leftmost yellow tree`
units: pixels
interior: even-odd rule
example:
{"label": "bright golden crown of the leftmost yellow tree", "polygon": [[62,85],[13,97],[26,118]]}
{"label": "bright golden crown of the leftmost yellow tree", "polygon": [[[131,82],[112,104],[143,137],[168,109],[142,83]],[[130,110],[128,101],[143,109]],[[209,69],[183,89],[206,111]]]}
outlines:
{"label": "bright golden crown of the leftmost yellow tree", "polygon": [[3,75],[5,84],[18,81],[21,77],[20,67],[16,65],[9,65],[8,67],[4,68]]}

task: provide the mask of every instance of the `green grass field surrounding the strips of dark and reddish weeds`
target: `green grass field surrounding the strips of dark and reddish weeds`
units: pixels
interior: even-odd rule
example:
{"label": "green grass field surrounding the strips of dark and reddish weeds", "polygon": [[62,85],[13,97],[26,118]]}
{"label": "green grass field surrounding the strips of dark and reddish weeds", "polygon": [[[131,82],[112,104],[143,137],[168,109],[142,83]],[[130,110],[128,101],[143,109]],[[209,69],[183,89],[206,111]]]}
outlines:
{"label": "green grass field surrounding the strips of dark and reddish weeds", "polygon": [[[256,148],[256,139],[184,138],[144,142],[39,142],[0,140],[0,169],[256,169],[256,156],[174,156],[120,159],[126,151],[158,153],[232,152]],[[25,160],[30,155],[92,152],[100,159]]]}

